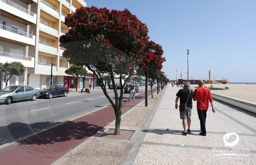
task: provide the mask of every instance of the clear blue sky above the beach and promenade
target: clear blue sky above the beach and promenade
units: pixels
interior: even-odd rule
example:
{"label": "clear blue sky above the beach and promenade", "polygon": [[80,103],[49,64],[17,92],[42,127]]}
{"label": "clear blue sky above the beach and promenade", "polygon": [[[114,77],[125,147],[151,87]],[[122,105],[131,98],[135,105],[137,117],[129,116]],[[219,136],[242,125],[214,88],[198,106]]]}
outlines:
{"label": "clear blue sky above the beach and promenade", "polygon": [[170,80],[256,82],[256,0],[85,0],[87,6],[129,9],[163,47]]}

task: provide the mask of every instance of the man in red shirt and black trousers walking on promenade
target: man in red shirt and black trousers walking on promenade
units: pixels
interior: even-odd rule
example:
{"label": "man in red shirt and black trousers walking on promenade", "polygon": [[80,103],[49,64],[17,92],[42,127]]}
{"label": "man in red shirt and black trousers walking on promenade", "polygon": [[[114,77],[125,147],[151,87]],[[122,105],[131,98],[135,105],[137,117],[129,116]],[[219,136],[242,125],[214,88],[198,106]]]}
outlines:
{"label": "man in red shirt and black trousers walking on promenade", "polygon": [[194,97],[193,100],[196,102],[196,107],[198,110],[198,118],[200,120],[201,125],[201,132],[199,133],[202,136],[206,136],[206,128],[205,128],[205,122],[206,122],[206,113],[209,108],[209,102],[212,105],[212,112],[215,113],[215,109],[213,107],[213,99],[212,94],[209,88],[204,87],[203,80],[198,81],[198,88],[194,91]]}

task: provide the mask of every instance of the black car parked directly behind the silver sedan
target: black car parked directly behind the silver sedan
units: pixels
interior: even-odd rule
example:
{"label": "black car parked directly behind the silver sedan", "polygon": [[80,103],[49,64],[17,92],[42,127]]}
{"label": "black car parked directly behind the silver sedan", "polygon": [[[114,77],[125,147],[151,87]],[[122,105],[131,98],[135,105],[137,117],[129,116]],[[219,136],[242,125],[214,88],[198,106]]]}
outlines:
{"label": "black car parked directly behind the silver sedan", "polygon": [[52,97],[56,96],[66,97],[68,93],[69,89],[65,88],[63,85],[50,85],[40,91],[40,97],[52,99]]}

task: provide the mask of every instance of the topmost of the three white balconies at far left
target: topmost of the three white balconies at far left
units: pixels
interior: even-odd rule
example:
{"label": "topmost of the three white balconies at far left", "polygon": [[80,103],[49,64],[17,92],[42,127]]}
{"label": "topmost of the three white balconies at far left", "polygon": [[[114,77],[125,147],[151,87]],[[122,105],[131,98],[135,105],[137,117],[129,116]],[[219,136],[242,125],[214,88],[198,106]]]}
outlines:
{"label": "topmost of the three white balconies at far left", "polygon": [[26,22],[29,22],[27,24],[36,24],[37,15],[35,13],[13,3],[12,1],[0,0],[0,9],[26,20]]}

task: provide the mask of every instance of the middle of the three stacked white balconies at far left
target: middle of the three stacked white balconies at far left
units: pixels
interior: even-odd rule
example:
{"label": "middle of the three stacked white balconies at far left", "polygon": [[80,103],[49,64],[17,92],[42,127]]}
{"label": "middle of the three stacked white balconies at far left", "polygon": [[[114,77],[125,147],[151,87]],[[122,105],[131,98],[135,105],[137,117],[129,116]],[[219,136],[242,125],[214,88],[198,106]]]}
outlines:
{"label": "middle of the three stacked white balconies at far left", "polygon": [[21,43],[21,45],[35,46],[34,35],[2,24],[0,24],[0,37],[6,38],[10,40],[10,42],[17,41]]}

